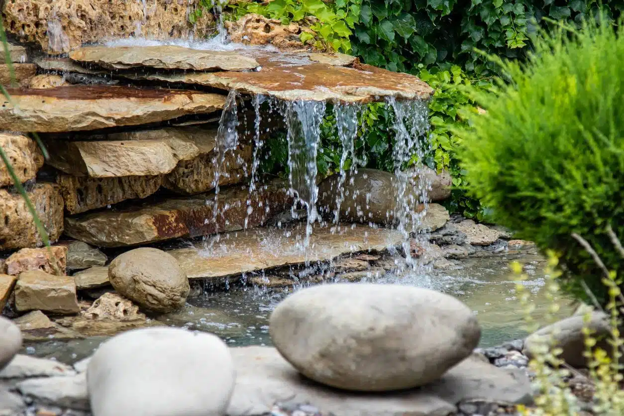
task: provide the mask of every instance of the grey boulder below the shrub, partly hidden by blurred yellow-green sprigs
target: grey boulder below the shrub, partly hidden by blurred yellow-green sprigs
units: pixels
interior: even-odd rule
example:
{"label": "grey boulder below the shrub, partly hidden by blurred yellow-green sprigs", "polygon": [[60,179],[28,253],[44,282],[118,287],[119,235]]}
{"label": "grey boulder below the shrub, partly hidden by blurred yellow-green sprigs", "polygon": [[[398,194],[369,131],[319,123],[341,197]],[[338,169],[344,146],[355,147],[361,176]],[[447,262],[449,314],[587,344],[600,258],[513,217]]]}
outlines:
{"label": "grey boulder below the shrub, partly hidden by blurred yellow-green sprigs", "polygon": [[[592,312],[592,320],[588,327],[595,331],[595,337],[609,336],[609,317],[603,312]],[[583,336],[583,316],[571,316],[552,325],[545,326],[539,331],[530,334],[524,341],[522,353],[532,358],[540,346],[549,345],[552,341],[554,346],[560,347],[563,352],[559,356],[572,367],[582,368],[587,366],[587,359],[583,356],[585,352],[585,336]],[[607,342],[600,342],[599,347],[610,351]]]}

